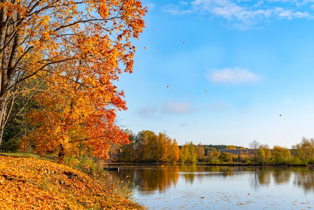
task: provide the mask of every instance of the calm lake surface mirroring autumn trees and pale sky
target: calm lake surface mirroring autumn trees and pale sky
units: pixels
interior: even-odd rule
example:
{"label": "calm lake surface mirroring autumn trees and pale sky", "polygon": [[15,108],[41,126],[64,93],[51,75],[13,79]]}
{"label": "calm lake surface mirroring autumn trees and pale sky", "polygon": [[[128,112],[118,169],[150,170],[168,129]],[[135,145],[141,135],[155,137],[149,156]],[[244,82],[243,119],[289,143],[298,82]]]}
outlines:
{"label": "calm lake surface mirroring autumn trees and pale sky", "polygon": [[121,167],[111,172],[113,179],[128,183],[148,209],[314,208],[314,168]]}

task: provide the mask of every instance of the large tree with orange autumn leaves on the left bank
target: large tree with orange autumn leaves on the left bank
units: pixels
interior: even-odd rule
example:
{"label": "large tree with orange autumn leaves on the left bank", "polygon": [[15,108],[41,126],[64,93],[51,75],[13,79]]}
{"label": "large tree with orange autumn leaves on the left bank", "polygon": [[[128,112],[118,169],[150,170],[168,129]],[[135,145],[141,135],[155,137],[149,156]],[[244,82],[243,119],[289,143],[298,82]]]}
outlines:
{"label": "large tree with orange autumn leaves on the left bank", "polygon": [[27,116],[37,129],[23,149],[59,154],[62,162],[79,149],[108,157],[111,142],[127,143],[115,125],[115,112],[126,110],[124,92],[113,82],[133,70],[141,2],[2,1],[0,8],[0,144],[14,88],[36,78],[46,88],[35,98],[40,110]]}

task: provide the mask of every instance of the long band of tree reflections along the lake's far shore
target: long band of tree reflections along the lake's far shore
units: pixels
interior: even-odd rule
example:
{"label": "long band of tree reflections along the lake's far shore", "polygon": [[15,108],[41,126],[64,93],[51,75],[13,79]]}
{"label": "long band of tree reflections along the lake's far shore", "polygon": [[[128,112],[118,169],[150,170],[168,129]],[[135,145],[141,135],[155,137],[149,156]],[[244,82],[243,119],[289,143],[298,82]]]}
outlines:
{"label": "long band of tree reflections along the lake's far shore", "polygon": [[[249,185],[257,190],[259,187],[267,187],[272,182],[274,185],[287,184],[304,189],[306,192],[314,192],[313,168],[274,168],[274,167],[243,167],[243,166],[199,166],[199,165],[149,165],[149,166],[121,166],[123,170],[111,172],[113,180],[127,182],[133,188],[140,189],[141,193],[163,192],[170,187],[178,185],[179,178],[184,179],[185,184],[192,185],[195,182],[216,177],[219,179],[232,179],[249,175]],[[291,180],[292,179],[292,180]],[[231,180],[232,181],[232,180]]]}

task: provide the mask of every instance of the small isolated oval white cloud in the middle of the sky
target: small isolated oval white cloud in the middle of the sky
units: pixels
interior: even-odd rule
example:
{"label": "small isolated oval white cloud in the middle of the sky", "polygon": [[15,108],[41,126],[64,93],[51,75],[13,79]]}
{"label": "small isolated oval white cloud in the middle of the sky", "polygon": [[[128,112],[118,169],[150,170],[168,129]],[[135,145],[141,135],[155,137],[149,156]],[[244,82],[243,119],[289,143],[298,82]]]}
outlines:
{"label": "small isolated oval white cloud in the middle of the sky", "polygon": [[207,78],[210,82],[226,84],[252,83],[260,80],[259,76],[242,68],[224,68],[211,70]]}

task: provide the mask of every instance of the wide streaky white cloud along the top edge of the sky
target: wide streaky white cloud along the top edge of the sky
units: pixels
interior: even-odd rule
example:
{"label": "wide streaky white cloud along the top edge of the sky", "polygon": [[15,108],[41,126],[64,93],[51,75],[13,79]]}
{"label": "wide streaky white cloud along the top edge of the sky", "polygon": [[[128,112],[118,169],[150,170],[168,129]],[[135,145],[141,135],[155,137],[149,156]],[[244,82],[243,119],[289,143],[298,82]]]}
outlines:
{"label": "wide streaky white cloud along the top edge of the sky", "polygon": [[[268,3],[268,4],[266,4]],[[172,15],[194,13],[212,18],[225,19],[234,26],[254,26],[275,19],[296,19],[314,17],[312,1],[237,1],[237,0],[194,0],[167,5],[165,12]]]}

